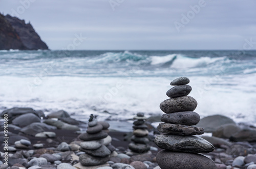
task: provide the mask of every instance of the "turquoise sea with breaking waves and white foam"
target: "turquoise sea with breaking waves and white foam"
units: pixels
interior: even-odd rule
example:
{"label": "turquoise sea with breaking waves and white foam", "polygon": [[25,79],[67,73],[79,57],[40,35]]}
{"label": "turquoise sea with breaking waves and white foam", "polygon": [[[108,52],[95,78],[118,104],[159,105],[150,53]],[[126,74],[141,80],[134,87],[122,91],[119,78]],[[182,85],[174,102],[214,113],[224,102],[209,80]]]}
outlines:
{"label": "turquoise sea with breaking waves and white foam", "polygon": [[0,110],[63,109],[78,119],[162,114],[173,79],[187,76],[201,117],[256,122],[256,51],[0,51]]}

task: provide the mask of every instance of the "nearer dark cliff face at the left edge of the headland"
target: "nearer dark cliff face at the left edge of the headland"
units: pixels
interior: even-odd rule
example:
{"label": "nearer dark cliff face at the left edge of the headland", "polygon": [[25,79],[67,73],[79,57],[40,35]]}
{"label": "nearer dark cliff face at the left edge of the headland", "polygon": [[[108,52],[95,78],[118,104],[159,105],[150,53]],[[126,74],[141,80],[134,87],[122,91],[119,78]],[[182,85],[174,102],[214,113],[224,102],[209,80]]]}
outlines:
{"label": "nearer dark cliff face at the left edge of the headland", "polygon": [[0,50],[27,49],[12,25],[0,14]]}

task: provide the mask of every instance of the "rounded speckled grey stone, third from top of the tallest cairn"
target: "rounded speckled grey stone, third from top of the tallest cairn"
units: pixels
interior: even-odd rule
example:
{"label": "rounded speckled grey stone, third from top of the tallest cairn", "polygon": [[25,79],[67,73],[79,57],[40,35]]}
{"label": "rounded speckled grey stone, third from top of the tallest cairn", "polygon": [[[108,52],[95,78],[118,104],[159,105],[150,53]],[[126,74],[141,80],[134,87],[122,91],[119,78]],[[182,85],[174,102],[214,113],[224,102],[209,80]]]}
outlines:
{"label": "rounded speckled grey stone, third from top of the tallest cairn", "polygon": [[196,107],[197,101],[191,96],[167,99],[160,104],[161,110],[167,114],[179,111],[193,111]]}

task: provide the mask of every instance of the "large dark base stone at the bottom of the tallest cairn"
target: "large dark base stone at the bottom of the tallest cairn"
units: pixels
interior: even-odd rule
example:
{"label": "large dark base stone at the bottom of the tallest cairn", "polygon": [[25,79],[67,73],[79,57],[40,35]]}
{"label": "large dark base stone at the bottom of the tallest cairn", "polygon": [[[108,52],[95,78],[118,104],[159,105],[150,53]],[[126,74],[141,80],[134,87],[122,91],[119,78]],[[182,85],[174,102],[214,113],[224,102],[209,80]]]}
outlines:
{"label": "large dark base stone at the bottom of the tallest cairn", "polygon": [[180,153],[162,150],[157,154],[157,163],[161,169],[215,169],[214,161],[194,153]]}

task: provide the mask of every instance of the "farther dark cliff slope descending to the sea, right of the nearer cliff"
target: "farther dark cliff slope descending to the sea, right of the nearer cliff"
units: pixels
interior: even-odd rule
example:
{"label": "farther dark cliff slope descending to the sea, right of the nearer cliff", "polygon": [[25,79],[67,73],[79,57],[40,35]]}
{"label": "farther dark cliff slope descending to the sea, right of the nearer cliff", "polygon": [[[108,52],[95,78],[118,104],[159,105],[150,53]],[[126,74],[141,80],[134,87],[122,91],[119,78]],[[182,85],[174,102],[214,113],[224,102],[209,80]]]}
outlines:
{"label": "farther dark cliff slope descending to the sea, right of the nearer cliff", "polygon": [[27,49],[48,49],[46,43],[41,40],[30,23],[26,24],[25,20],[20,20],[17,17],[12,17],[10,15],[6,15],[5,18],[17,32],[20,40]]}

